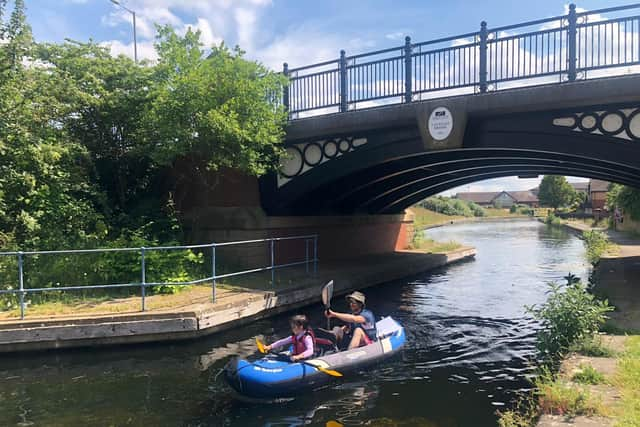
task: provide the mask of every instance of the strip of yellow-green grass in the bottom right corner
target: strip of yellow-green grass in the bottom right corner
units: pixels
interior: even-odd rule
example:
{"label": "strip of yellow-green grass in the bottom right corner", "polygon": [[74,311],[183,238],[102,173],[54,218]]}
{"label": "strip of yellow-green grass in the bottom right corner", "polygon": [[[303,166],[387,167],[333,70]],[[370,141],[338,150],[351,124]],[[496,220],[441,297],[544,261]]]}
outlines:
{"label": "strip of yellow-green grass in the bottom right corner", "polygon": [[622,395],[616,426],[640,426],[640,336],[627,339],[614,384]]}

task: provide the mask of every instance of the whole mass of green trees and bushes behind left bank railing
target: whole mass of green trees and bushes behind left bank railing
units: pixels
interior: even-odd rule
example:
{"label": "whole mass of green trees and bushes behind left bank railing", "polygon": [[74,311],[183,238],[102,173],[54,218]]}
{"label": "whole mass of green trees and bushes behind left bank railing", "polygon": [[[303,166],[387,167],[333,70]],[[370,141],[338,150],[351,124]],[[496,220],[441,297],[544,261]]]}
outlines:
{"label": "whole mass of green trees and bushes behind left bank railing", "polygon": [[[8,4],[0,0],[2,251],[185,243],[193,188],[215,186],[220,168],[257,176],[277,167],[286,114],[275,94],[285,80],[239,48],[158,27],[157,63],[135,64],[93,42],[37,43],[24,1],[3,19]],[[201,277],[201,254],[148,256],[156,281]],[[28,262],[28,286],[140,274],[135,253]],[[0,256],[0,289],[16,286],[15,257]],[[67,297],[30,299],[56,295]],[[0,297],[0,309],[14,304]]]}

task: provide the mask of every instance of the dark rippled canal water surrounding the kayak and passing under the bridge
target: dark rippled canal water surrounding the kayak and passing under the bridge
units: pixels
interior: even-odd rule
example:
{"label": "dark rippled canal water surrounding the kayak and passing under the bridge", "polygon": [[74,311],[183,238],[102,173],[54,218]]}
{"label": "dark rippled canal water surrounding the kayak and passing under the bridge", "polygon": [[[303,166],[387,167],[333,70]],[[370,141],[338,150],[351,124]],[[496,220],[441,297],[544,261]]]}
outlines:
{"label": "dark rippled canal water surrounding the kayak and passing under the bridge", "polygon": [[[233,399],[222,367],[254,354],[257,335],[286,334],[284,314],[197,341],[0,356],[0,425],[496,425],[496,410],[529,387],[536,324],[524,306],[545,300],[548,281],[586,279],[582,243],[535,221],[427,235],[473,245],[476,259],[366,290],[378,316],[406,327],[408,343],[359,378],[292,402]],[[320,306],[304,311],[324,323]]]}

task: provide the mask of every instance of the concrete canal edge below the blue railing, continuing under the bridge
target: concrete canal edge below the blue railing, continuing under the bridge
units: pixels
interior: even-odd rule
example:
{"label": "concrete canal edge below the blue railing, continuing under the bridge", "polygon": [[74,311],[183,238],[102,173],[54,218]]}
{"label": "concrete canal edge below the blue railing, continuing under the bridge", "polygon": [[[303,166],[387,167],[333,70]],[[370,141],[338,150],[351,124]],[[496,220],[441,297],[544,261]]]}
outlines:
{"label": "concrete canal edge below the blue railing, continuing under the bridge", "polygon": [[[334,295],[414,276],[468,260],[475,248],[442,254],[399,251],[382,262],[369,257],[323,265],[305,285],[283,291],[247,291],[226,304],[196,304],[173,312],[72,316],[0,323],[0,353],[193,339],[298,307],[318,303],[320,288],[334,280]],[[375,261],[375,262],[374,262]]]}

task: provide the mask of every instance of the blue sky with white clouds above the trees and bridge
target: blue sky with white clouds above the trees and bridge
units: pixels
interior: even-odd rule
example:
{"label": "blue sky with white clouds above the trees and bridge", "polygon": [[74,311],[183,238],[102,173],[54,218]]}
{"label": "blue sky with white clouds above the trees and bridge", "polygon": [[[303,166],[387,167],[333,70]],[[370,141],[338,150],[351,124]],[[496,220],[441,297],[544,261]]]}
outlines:
{"label": "blue sky with white clouds above the trees and bridge", "polygon": [[[138,57],[154,59],[154,23],[179,32],[201,31],[205,45],[239,45],[247,57],[281,70],[347,54],[477,31],[481,21],[498,27],[563,15],[560,0],[121,0],[136,13]],[[580,0],[595,10],[628,4],[623,0]],[[132,14],[111,0],[26,0],[37,41],[65,39],[107,44],[114,54],[133,57]],[[11,10],[11,6],[9,6]],[[538,179],[499,178],[449,191],[526,190]],[[570,181],[580,179],[570,178]]]}

